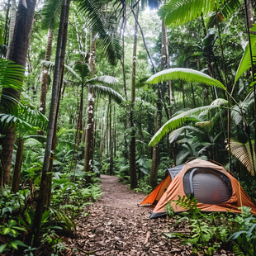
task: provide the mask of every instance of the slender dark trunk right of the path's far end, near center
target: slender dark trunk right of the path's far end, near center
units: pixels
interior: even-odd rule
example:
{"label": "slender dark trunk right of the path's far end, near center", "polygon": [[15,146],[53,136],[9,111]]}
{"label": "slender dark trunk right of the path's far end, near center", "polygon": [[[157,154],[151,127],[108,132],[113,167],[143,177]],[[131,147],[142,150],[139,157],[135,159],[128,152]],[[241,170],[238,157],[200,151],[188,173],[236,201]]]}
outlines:
{"label": "slender dark trunk right of the path's far end, near center", "polygon": [[139,7],[135,13],[135,36],[133,43],[132,54],[132,74],[131,74],[131,96],[130,96],[130,188],[137,187],[136,173],[136,139],[135,139],[135,124],[134,124],[134,106],[135,106],[135,82],[136,82],[136,59],[137,59],[137,34],[138,22],[136,18],[139,15]]}

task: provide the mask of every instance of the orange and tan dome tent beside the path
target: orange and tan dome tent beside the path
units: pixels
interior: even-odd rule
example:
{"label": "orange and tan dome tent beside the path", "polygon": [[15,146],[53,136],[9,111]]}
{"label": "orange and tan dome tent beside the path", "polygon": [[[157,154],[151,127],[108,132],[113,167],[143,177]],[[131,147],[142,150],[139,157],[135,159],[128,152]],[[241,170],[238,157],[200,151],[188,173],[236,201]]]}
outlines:
{"label": "orange and tan dome tent beside the path", "polygon": [[256,215],[256,207],[245,194],[239,182],[223,166],[195,159],[167,170],[167,175],[140,205],[155,204],[150,219],[166,216],[165,206],[171,201],[174,212],[186,211],[173,200],[191,195],[201,211],[241,212],[240,206],[249,206]]}

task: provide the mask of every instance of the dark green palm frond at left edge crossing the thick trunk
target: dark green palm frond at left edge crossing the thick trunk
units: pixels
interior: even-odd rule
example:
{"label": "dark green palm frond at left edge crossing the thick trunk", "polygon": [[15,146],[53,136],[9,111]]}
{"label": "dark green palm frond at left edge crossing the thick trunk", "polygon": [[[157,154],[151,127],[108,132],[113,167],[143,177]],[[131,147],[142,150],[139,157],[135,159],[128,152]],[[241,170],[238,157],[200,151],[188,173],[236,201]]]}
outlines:
{"label": "dark green palm frond at left edge crossing the thick trunk", "polygon": [[25,69],[12,61],[0,59],[0,88],[21,90]]}

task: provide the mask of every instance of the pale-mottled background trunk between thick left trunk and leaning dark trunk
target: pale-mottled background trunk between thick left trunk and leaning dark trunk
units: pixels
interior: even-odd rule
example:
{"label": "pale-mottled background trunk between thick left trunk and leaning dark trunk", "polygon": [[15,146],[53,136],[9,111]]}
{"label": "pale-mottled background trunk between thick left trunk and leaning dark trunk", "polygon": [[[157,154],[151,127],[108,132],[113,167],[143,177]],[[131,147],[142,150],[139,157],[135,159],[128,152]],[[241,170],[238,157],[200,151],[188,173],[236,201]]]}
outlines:
{"label": "pale-mottled background trunk between thick left trunk and leaning dark trunk", "polygon": [[[53,44],[54,34],[52,30],[48,30],[48,40],[45,52],[45,60],[50,61],[52,44]],[[48,68],[44,65],[42,71],[42,81],[41,81],[41,92],[40,92],[40,109],[39,111],[45,115],[46,109],[46,93],[48,90]]]}

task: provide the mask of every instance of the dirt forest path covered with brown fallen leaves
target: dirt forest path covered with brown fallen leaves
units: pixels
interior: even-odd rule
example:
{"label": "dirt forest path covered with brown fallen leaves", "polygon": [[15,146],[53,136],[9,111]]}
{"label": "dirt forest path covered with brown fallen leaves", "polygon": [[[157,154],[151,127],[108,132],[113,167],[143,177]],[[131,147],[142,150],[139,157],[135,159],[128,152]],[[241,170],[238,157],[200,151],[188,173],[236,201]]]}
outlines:
{"label": "dirt forest path covered with brown fallen leaves", "polygon": [[115,176],[101,178],[102,197],[76,221],[78,239],[69,240],[73,255],[190,255],[184,245],[162,237],[170,226],[164,219],[149,220],[152,207],[138,207],[144,194]]}

